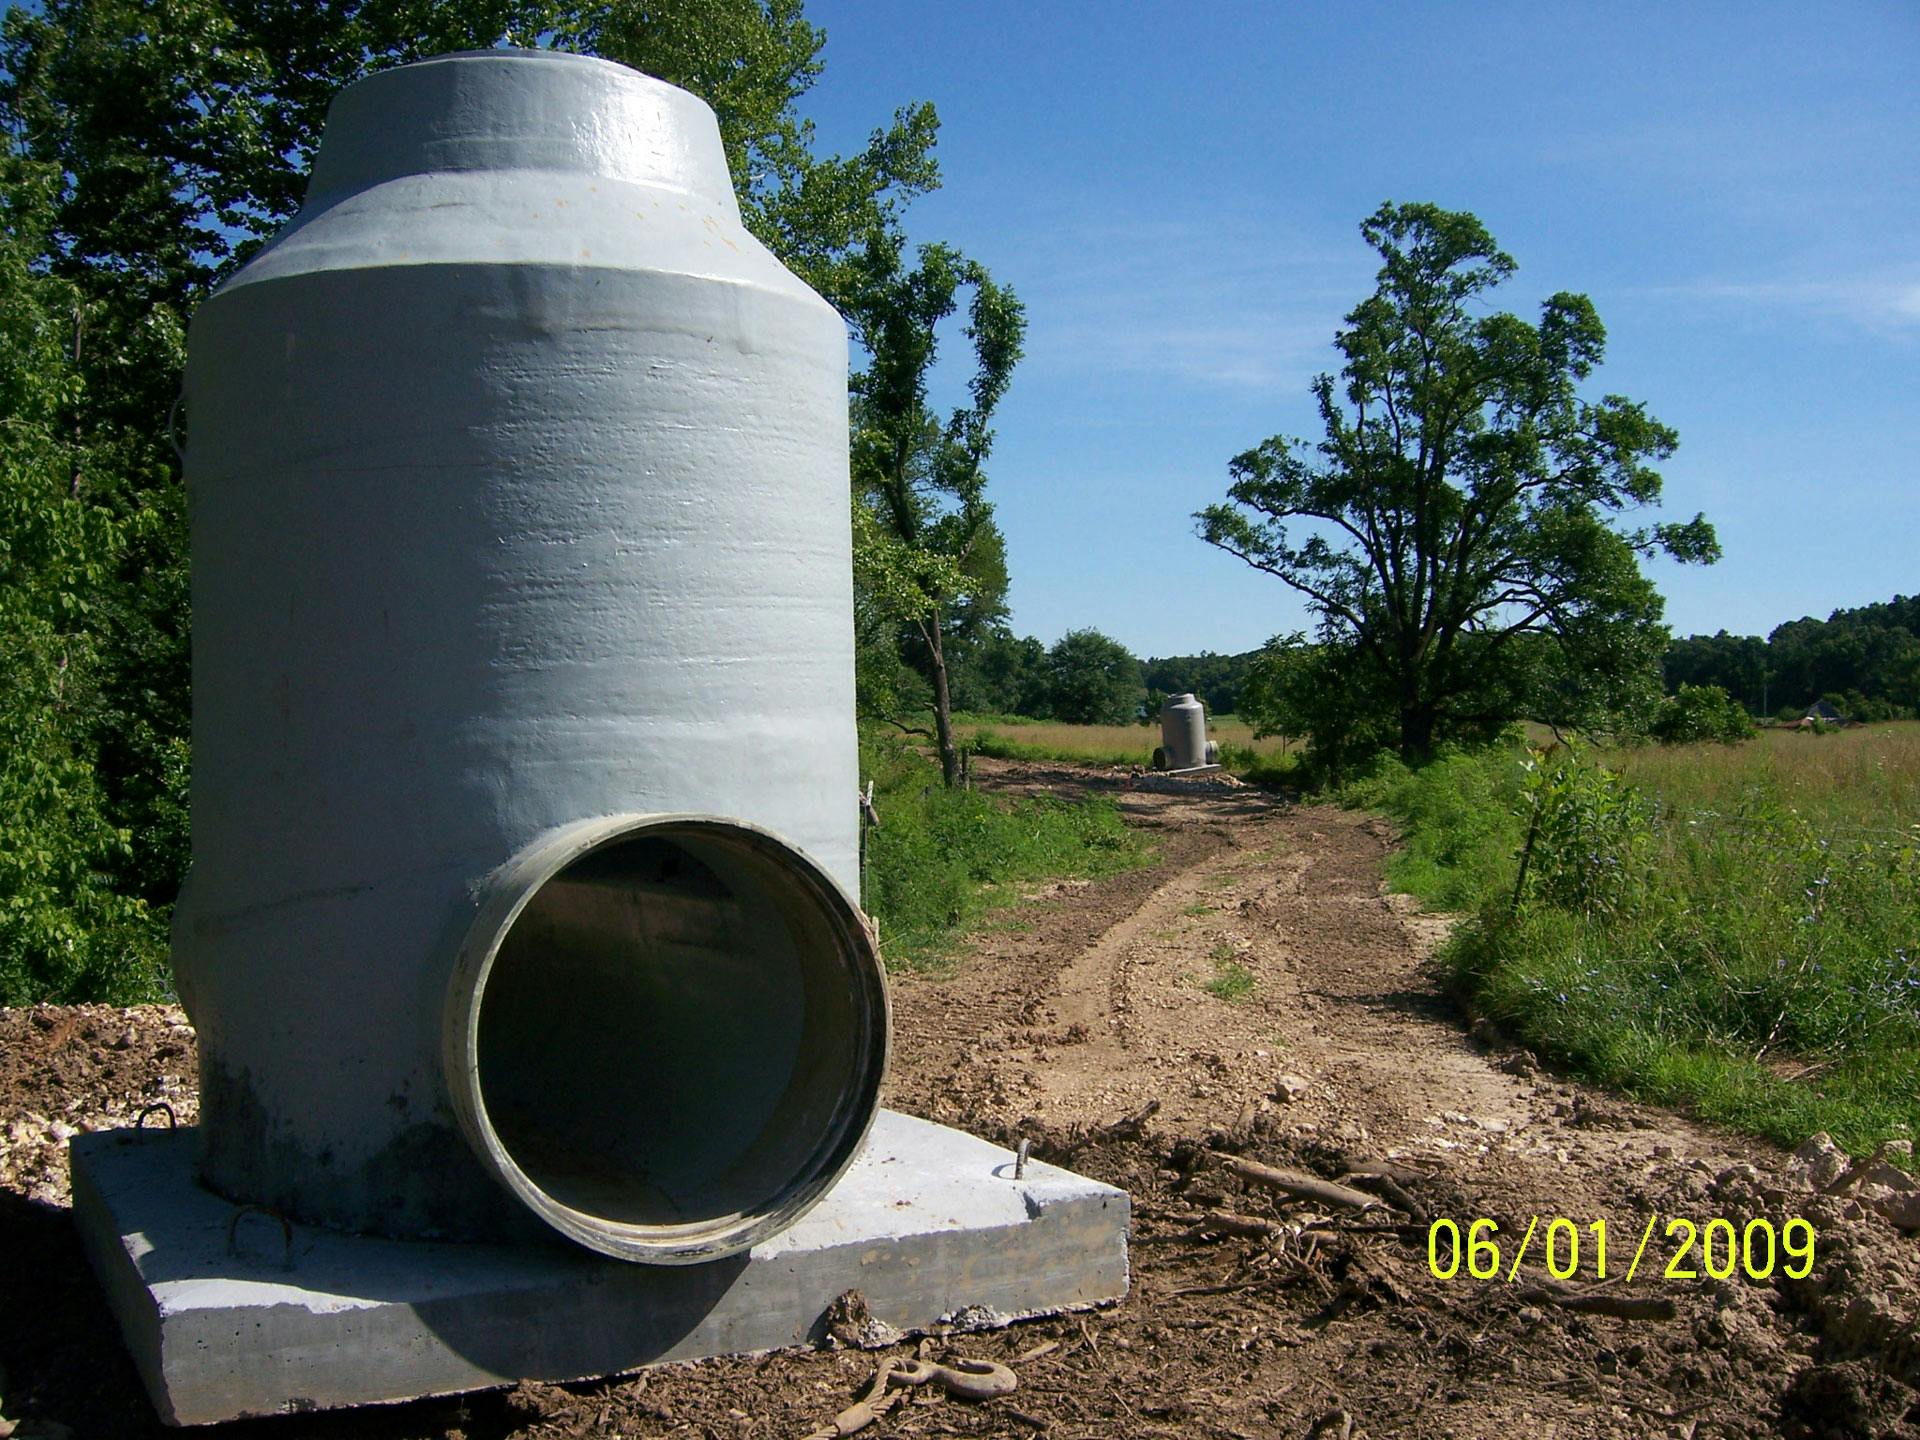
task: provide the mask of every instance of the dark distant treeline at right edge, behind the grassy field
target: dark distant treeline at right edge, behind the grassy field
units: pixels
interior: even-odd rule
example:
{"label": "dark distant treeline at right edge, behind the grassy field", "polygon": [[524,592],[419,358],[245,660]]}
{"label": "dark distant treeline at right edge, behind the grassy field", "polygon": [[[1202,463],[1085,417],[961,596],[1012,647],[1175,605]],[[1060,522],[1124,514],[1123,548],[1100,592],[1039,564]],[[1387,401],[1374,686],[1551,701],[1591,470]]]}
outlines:
{"label": "dark distant treeline at right edge, behind the grassy field", "polygon": [[1720,685],[1753,714],[1826,701],[1849,720],[1920,712],[1920,595],[1789,620],[1759,636],[1688,636],[1667,649],[1667,689]]}

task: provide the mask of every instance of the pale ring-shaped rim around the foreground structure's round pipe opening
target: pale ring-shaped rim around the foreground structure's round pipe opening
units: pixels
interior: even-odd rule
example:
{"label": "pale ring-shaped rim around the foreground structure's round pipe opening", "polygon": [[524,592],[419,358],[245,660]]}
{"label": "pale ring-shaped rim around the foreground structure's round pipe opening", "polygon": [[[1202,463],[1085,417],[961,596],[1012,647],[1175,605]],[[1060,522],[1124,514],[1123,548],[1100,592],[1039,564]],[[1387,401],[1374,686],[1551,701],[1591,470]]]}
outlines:
{"label": "pale ring-shaped rim around the foreground structure's round pipe opening", "polygon": [[[515,922],[545,883],[586,856],[649,831],[697,831],[739,843],[789,870],[851,960],[858,987],[854,1054],[866,1064],[841,1096],[822,1140],[778,1204],[684,1225],[634,1225],[576,1210],[547,1194],[522,1169],[488,1116],[480,1079],[480,1012],[486,983]],[[874,1039],[877,1035],[877,1046]],[[618,1260],[695,1265],[751,1250],[812,1210],[852,1165],[879,1110],[879,1087],[893,1043],[885,968],[860,906],[812,856],[781,835],[745,820],[699,812],[618,814],[547,831],[480,885],[478,912],[453,962],[442,1025],[444,1073],[453,1114],[482,1167],[541,1221],[578,1244]]]}

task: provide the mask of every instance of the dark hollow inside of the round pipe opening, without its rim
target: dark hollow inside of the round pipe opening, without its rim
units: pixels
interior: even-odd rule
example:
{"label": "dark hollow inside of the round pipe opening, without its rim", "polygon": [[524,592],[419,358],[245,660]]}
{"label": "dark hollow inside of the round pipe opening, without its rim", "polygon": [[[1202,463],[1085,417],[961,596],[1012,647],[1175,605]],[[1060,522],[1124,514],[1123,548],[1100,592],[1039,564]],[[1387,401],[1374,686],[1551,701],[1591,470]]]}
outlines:
{"label": "dark hollow inside of the round pipe opening, without its rim", "polygon": [[507,1154],[616,1225],[774,1210],[874,1064],[843,925],[778,852],[659,828],[561,870],[480,998],[478,1079]]}

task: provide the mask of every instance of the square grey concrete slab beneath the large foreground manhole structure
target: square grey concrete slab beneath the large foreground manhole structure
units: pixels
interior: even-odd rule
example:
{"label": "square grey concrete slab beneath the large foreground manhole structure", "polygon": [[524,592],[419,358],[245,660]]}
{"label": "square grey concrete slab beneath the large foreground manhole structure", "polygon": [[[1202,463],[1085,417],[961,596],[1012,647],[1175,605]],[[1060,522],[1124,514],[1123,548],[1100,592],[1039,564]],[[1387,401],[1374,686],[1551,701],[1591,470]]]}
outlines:
{"label": "square grey concrete slab beneath the large foreground manhole structure", "polygon": [[860,1290],[902,1332],[995,1325],[1127,1292],[1127,1192],[881,1112],[793,1229],[707,1265],[551,1246],[378,1240],[246,1210],[194,1183],[194,1131],[73,1139],[73,1213],[169,1425],[515,1380],[618,1375],[822,1334]]}

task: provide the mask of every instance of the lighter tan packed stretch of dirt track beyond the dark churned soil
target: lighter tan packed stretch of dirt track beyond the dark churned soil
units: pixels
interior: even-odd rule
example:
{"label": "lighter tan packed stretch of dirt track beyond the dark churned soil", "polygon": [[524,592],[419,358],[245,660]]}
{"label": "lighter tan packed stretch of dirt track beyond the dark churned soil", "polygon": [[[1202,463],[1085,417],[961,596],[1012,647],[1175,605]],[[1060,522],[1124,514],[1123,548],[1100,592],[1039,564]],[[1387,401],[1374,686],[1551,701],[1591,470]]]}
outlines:
{"label": "lighter tan packed stretch of dirt track beyond the dark churned soil", "polygon": [[[902,977],[902,1050],[964,1037],[937,1079],[908,1052],[902,1098],[964,1096],[989,1127],[1087,1127],[1160,1100],[1160,1125],[1196,1135],[1284,1106],[1396,1154],[1459,1144],[1436,1133],[1448,1114],[1482,1135],[1524,1127],[1530,1087],[1467,1044],[1421,973],[1432,918],[1380,893],[1379,820],[1233,791],[1123,803],[1181,837],[1156,883],[1129,889],[1131,908],[1087,900],[1066,916],[1077,933],[970,954],[954,979]],[[962,998],[979,991],[995,1012]]]}

